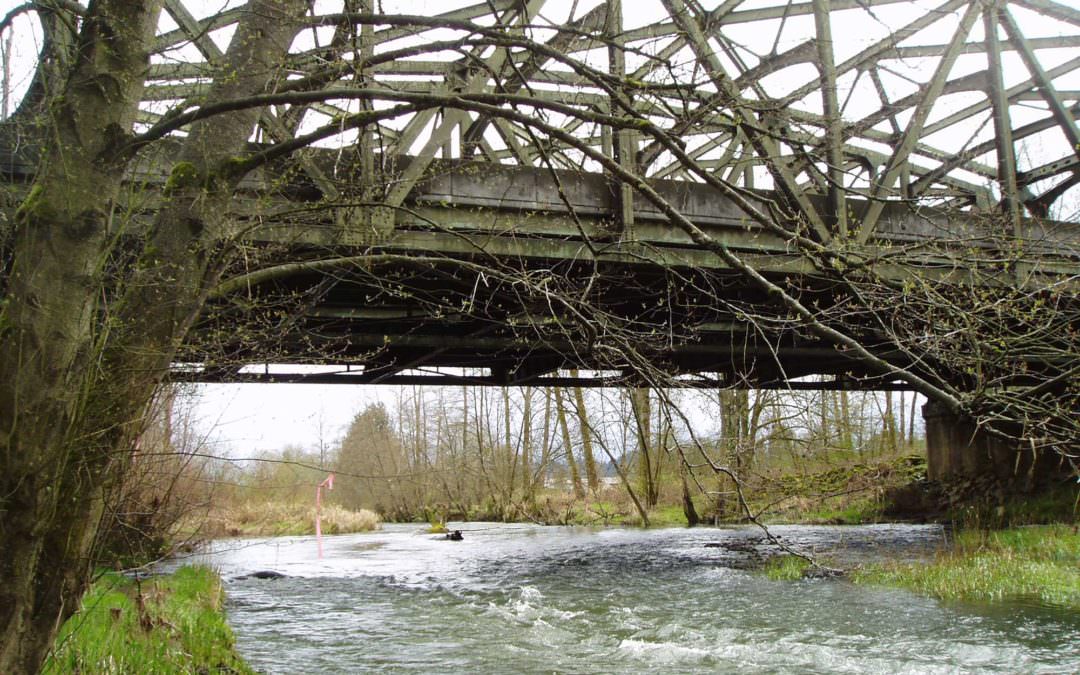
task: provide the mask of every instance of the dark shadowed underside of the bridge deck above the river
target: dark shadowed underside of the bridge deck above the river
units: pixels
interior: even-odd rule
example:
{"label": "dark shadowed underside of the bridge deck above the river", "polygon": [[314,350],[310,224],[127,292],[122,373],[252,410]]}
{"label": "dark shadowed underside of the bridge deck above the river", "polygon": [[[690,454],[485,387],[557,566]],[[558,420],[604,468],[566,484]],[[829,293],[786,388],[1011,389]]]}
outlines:
{"label": "dark shadowed underside of the bridge deck above the river", "polygon": [[[692,376],[687,384],[774,387],[825,374],[881,386],[808,330],[762,319],[768,299],[730,272],[565,259],[511,269],[514,264],[394,261],[297,274],[273,287],[288,308],[280,316],[239,322],[273,326],[272,343],[230,328],[238,322],[226,311],[204,328],[214,333],[215,349],[192,354],[204,367],[191,375],[202,381],[613,384],[651,372]],[[534,287],[522,281],[530,278],[539,280]],[[269,299],[264,295],[260,305]],[[240,366],[260,361],[279,365]],[[340,367],[310,373],[303,365]],[[571,368],[591,373],[571,378],[565,374]]]}

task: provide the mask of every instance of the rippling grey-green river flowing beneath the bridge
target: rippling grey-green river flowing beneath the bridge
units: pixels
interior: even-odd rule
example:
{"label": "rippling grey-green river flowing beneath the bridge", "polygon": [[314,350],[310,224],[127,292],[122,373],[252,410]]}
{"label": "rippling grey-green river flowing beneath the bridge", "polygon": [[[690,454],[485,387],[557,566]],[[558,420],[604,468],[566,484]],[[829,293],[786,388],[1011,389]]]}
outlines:
{"label": "rippling grey-green river flowing beneath the bridge", "polygon": [[[754,528],[463,524],[218,542],[241,653],[266,673],[1080,673],[1080,616],[748,571]],[[846,565],[936,526],[774,527]],[[246,577],[274,570],[280,579]]]}

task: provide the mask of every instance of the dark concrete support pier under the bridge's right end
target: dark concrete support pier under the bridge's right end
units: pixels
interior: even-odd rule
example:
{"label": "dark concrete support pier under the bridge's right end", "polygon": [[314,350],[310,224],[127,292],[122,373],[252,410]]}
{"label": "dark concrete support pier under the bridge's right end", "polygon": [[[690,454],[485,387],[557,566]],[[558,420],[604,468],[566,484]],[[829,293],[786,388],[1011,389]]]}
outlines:
{"label": "dark concrete support pier under the bridge's right end", "polygon": [[1052,453],[1021,448],[978,429],[970,418],[949,413],[936,403],[922,406],[927,427],[927,477],[995,477],[1016,487],[1067,474]]}

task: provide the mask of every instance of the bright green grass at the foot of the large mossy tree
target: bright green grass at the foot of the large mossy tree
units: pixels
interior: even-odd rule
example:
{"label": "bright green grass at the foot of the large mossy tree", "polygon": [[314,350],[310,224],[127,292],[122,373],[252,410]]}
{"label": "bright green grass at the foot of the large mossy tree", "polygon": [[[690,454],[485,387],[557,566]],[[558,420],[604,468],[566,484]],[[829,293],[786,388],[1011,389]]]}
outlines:
{"label": "bright green grass at the foot of the large mossy tree", "polygon": [[98,579],[60,629],[44,673],[253,673],[233,650],[220,579],[205,567]]}

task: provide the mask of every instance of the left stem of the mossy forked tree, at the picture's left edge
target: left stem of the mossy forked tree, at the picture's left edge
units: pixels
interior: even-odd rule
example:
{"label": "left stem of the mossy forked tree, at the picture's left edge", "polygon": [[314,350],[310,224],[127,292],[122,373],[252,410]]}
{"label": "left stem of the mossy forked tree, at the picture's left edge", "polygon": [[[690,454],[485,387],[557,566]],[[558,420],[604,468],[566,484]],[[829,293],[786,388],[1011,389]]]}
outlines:
{"label": "left stem of the mossy forked tree, at the picture's left edge", "polygon": [[[157,23],[152,3],[98,2],[46,120],[51,139],[18,211],[0,316],[0,672],[36,672],[86,582],[111,441],[89,433],[110,203]],[[68,17],[75,19],[73,16]],[[105,36],[112,39],[106,45]]]}

